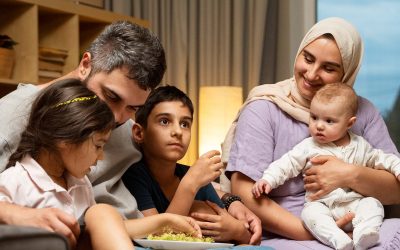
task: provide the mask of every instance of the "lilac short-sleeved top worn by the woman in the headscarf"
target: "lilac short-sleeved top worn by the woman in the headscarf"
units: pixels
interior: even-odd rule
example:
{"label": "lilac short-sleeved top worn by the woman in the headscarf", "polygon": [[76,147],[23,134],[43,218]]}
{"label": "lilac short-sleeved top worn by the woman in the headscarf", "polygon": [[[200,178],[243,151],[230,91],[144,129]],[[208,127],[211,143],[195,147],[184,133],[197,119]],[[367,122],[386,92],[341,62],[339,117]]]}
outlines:
{"label": "lilac short-sleeved top worn by the woman in the headscarf", "polygon": [[[351,131],[373,147],[399,155],[379,111],[365,98],[359,97],[358,102],[357,121]],[[238,171],[256,181],[271,162],[309,136],[307,124],[294,120],[274,103],[253,101],[238,120],[226,174],[229,177]],[[269,197],[300,217],[304,195],[303,179],[298,176],[272,190]]]}

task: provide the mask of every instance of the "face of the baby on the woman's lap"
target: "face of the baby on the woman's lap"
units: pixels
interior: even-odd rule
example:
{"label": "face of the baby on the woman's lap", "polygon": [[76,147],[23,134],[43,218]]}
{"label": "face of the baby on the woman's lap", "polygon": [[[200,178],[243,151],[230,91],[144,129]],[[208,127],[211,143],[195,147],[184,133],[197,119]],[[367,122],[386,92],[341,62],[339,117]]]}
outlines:
{"label": "face of the baby on the woman's lap", "polygon": [[337,146],[344,146],[348,143],[350,118],[349,111],[342,103],[326,103],[314,98],[310,106],[310,134],[318,143],[333,142]]}

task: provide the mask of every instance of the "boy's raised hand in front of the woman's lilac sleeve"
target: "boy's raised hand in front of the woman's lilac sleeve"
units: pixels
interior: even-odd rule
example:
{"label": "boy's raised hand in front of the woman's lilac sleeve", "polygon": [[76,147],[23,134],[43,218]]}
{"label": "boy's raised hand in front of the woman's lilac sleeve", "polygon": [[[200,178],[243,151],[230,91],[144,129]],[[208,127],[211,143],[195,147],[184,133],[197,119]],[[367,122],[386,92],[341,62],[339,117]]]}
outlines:
{"label": "boy's raised hand in front of the woman's lilac sleeve", "polygon": [[223,168],[221,157],[218,155],[220,155],[220,152],[217,150],[211,150],[203,154],[189,168],[189,171],[183,178],[187,178],[198,188],[211,183],[221,175],[221,168]]}

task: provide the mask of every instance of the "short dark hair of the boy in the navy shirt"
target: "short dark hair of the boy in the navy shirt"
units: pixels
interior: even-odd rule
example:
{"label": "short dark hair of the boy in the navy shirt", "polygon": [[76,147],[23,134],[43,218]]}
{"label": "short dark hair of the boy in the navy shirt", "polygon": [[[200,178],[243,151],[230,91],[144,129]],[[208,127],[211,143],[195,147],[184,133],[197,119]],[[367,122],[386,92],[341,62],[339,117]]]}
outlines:
{"label": "short dark hair of the boy in the navy shirt", "polygon": [[190,98],[180,89],[174,86],[162,86],[154,89],[146,102],[136,112],[135,122],[142,125],[144,128],[147,127],[147,118],[149,117],[153,108],[161,102],[180,101],[189,108],[191,115],[193,116],[193,103]]}

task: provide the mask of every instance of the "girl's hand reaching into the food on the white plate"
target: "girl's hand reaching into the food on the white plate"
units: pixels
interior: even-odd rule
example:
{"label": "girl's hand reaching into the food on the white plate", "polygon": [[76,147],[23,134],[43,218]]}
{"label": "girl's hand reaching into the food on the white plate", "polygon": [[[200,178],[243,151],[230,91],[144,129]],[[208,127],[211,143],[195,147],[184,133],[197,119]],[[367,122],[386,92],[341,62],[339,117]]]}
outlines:
{"label": "girl's hand reaching into the food on the white plate", "polygon": [[202,237],[201,229],[199,224],[188,216],[182,216],[178,214],[165,213],[168,217],[168,227],[175,233],[187,233],[194,237]]}

